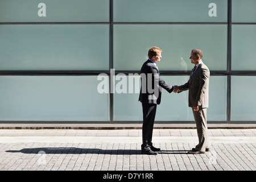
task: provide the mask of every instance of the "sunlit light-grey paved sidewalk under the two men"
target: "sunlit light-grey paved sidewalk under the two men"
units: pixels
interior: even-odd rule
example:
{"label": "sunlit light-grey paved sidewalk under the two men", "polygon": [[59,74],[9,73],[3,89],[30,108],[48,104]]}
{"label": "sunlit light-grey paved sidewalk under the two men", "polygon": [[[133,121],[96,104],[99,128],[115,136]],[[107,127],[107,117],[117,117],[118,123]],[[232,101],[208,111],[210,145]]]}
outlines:
{"label": "sunlit light-grey paved sidewalk under the two men", "polygon": [[209,129],[210,151],[187,154],[196,129],[154,129],[158,155],[141,154],[141,130],[0,130],[0,171],[255,171],[256,129]]}

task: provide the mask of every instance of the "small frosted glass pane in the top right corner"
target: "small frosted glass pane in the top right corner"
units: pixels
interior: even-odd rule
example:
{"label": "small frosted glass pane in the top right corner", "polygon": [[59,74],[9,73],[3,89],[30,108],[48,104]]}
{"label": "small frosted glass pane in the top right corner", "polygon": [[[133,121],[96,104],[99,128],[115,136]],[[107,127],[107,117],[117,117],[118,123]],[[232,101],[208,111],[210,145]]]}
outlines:
{"label": "small frosted glass pane in the top right corner", "polygon": [[232,22],[256,23],[255,0],[232,0]]}

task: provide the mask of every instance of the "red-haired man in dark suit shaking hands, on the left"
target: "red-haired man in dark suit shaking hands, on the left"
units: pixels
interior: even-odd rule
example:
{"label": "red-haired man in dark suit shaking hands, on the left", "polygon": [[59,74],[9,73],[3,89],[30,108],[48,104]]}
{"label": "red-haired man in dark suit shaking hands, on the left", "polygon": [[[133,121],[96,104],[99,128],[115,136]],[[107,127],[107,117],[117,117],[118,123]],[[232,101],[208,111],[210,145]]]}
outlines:
{"label": "red-haired man in dark suit shaking hands, on the left", "polygon": [[162,50],[152,47],[148,51],[148,60],[141,68],[141,92],[139,101],[142,102],[143,125],[142,125],[142,154],[156,155],[160,148],[155,148],[152,144],[152,132],[155,121],[156,106],[160,104],[162,88],[171,93],[174,87],[167,84],[160,77],[159,69],[156,65],[161,59]]}

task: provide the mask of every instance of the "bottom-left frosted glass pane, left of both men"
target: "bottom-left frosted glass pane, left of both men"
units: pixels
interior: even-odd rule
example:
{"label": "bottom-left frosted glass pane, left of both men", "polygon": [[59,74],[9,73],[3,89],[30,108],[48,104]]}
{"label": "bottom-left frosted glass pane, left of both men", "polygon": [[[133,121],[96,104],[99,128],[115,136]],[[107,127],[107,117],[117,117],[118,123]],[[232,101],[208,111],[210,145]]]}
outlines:
{"label": "bottom-left frosted glass pane, left of both men", "polygon": [[97,76],[0,76],[0,121],[109,122],[109,94],[97,84]]}

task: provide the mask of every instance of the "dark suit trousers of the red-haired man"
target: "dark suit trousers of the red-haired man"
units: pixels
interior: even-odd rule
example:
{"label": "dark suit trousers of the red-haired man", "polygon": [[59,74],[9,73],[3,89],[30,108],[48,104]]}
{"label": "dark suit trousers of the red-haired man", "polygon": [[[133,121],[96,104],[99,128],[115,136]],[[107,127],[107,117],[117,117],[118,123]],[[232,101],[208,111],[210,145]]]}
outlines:
{"label": "dark suit trousers of the red-haired man", "polygon": [[142,146],[152,146],[152,134],[156,114],[156,104],[144,104],[143,109],[143,125],[142,125]]}

